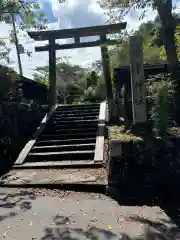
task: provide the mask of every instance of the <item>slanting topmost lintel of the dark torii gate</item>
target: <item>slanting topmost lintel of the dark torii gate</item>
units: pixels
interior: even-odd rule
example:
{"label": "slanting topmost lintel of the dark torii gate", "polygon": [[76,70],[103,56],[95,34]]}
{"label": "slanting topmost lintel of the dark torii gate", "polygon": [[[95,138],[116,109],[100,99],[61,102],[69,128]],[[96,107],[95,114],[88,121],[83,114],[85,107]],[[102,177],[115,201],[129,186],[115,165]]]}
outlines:
{"label": "slanting topmost lintel of the dark torii gate", "polygon": [[89,37],[102,34],[118,33],[120,30],[125,29],[126,25],[126,22],[121,22],[84,28],[28,32],[28,35],[36,41],[74,37]]}

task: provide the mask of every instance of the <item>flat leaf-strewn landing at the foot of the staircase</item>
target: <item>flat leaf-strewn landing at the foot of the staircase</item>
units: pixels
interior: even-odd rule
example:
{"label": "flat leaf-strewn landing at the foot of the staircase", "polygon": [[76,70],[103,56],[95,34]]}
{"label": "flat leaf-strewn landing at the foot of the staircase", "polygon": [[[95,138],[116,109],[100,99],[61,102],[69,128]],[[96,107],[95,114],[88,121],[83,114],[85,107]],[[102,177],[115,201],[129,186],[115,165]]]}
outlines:
{"label": "flat leaf-strewn landing at the foot of the staircase", "polygon": [[101,168],[19,169],[2,177],[3,184],[107,184],[107,170]]}

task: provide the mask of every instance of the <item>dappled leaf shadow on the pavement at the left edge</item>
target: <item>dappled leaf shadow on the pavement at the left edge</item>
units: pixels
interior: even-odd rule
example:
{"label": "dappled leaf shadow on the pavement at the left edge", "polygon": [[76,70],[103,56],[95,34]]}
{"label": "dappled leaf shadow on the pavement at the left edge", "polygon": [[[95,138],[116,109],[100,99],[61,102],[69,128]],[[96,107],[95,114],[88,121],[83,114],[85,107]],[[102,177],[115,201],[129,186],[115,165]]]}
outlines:
{"label": "dappled leaf shadow on the pavement at the left edge", "polygon": [[[18,191],[15,193],[7,193],[5,189],[0,192],[0,222],[7,218],[15,217],[19,214],[18,207],[22,211],[28,211],[32,207],[32,200],[36,197],[28,190]],[[11,209],[11,211],[2,214],[5,209]]]}

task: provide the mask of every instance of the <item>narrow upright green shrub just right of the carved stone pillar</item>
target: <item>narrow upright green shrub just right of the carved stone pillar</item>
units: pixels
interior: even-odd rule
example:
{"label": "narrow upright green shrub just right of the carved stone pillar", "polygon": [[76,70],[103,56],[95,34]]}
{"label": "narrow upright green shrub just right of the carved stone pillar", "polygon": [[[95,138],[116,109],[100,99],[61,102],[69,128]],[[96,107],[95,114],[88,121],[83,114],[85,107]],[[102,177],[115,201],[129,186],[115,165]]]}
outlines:
{"label": "narrow upright green shrub just right of the carved stone pillar", "polygon": [[160,137],[164,137],[167,133],[169,106],[175,93],[175,84],[169,76],[160,74],[148,80],[147,91],[155,131]]}

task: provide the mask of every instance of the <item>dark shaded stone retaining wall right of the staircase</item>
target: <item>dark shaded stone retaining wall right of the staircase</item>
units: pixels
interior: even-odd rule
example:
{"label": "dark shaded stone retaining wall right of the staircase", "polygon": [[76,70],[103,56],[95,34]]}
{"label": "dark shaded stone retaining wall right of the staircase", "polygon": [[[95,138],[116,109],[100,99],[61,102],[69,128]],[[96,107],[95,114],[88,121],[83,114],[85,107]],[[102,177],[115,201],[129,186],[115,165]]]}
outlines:
{"label": "dark shaded stone retaining wall right of the staircase", "polygon": [[180,185],[180,138],[147,141],[109,140],[108,185],[118,191],[158,185]]}

